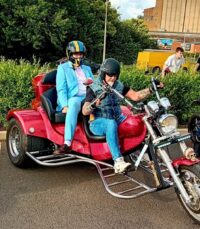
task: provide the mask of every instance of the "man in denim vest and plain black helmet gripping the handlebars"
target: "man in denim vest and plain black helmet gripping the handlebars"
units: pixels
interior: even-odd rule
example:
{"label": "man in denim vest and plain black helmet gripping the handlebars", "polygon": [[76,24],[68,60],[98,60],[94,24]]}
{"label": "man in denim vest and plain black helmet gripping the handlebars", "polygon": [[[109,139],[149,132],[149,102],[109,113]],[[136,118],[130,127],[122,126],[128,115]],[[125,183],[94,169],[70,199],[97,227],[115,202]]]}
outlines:
{"label": "man in denim vest and plain black helmet gripping the handlebars", "polygon": [[[119,62],[113,58],[106,59],[100,67],[98,78],[91,86],[87,87],[86,99],[82,108],[83,115],[92,114],[93,119],[90,120],[90,131],[94,135],[106,136],[106,141],[114,160],[115,173],[123,173],[131,165],[129,162],[124,161],[118,140],[118,126],[126,119],[126,116],[121,112],[120,101],[115,93],[110,92],[102,101],[97,100],[93,108],[90,104],[102,93],[102,87],[100,86],[102,84],[114,88],[133,101],[143,100],[153,92],[152,87],[134,91],[118,80],[119,75]],[[157,87],[163,87],[163,84],[157,81]]]}

